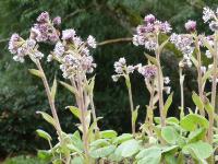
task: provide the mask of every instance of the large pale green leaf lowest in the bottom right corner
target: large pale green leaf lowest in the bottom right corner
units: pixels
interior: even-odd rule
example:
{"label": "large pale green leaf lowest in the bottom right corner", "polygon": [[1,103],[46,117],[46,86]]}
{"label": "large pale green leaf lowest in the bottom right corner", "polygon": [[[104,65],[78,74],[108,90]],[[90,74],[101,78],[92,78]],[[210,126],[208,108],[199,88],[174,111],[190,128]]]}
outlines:
{"label": "large pale green leaf lowest in the bottom right corner", "polygon": [[190,143],[182,149],[184,154],[191,154],[196,160],[205,160],[213,154],[213,147],[206,142],[198,141]]}

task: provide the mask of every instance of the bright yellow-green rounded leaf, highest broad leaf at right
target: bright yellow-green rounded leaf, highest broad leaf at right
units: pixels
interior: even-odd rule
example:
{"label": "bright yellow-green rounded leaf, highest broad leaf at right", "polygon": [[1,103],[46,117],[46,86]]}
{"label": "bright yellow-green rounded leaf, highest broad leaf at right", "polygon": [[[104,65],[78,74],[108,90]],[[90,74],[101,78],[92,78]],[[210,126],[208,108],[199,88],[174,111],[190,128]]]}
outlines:
{"label": "bright yellow-green rounded leaf, highest broad leaf at right", "polygon": [[209,127],[208,120],[197,114],[186,115],[185,117],[181,119],[180,125],[183,129],[187,131],[196,130],[197,126],[201,126],[205,129]]}

